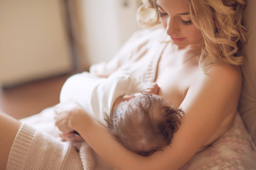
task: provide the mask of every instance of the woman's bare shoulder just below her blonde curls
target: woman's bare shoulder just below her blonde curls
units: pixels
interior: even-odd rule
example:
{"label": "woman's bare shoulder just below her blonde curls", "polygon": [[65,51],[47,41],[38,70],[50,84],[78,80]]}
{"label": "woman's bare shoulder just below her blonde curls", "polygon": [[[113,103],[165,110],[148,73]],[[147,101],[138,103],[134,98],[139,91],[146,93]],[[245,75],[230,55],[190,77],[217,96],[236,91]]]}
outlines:
{"label": "woman's bare shoulder just below her blonde curls", "polygon": [[236,109],[241,86],[240,67],[218,63],[210,66],[207,72],[201,71],[197,81],[188,89],[188,97],[196,100],[204,98],[209,103],[214,100],[222,101],[225,106],[233,106],[232,109]]}

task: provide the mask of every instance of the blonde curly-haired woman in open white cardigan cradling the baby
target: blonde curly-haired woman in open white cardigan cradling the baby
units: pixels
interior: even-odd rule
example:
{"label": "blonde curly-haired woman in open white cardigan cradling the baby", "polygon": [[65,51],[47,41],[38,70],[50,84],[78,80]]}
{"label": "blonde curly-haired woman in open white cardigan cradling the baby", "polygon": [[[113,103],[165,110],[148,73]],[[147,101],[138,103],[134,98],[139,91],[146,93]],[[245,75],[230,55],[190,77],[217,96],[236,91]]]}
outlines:
{"label": "blonde curly-haired woman in open white cardigan cradling the baby", "polygon": [[[144,23],[160,21],[165,29],[143,30],[110,63],[92,67],[92,73],[102,77],[126,70],[142,81],[159,84],[159,95],[185,113],[171,147],[150,157],[129,152],[77,105],[56,110],[56,118],[63,120],[58,128],[63,133],[78,131],[115,169],[180,168],[233,125],[242,82],[238,66],[244,57],[237,52],[245,41],[245,6],[243,0],[144,1],[140,8],[142,15],[148,16]],[[149,17],[151,12],[159,17]],[[138,38],[140,35],[144,36]],[[1,115],[0,126],[0,156],[4,158],[0,169],[4,169],[21,123]],[[102,139],[104,142],[99,142]]]}

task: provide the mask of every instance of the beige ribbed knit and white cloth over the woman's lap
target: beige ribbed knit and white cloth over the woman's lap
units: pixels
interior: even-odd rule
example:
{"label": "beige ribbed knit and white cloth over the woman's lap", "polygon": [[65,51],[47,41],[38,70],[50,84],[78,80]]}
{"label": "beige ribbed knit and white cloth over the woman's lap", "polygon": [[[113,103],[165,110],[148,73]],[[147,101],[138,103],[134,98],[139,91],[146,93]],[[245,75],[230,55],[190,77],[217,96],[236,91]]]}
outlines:
{"label": "beige ribbed knit and white cloth over the woman's lap", "polygon": [[61,142],[53,118],[51,107],[21,120],[23,126],[11,148],[7,169],[112,169],[86,142],[78,150]]}

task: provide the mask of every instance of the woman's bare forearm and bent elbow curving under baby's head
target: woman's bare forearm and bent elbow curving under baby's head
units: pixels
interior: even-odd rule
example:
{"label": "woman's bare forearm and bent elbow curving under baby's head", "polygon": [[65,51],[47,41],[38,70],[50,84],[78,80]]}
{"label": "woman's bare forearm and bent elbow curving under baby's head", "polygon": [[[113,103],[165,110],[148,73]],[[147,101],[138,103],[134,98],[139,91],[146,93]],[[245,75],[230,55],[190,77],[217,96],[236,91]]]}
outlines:
{"label": "woman's bare forearm and bent elbow curving under baby's head", "polygon": [[[64,115],[65,113],[63,112]],[[195,153],[191,150],[191,145],[183,145],[186,142],[181,142],[182,140],[178,142],[174,139],[176,144],[173,143],[172,147],[168,146],[149,157],[142,157],[117,142],[104,125],[92,118],[80,106],[73,107],[65,118],[68,118],[70,128],[77,131],[87,144],[115,169],[178,169]],[[184,150],[186,152],[183,152]]]}

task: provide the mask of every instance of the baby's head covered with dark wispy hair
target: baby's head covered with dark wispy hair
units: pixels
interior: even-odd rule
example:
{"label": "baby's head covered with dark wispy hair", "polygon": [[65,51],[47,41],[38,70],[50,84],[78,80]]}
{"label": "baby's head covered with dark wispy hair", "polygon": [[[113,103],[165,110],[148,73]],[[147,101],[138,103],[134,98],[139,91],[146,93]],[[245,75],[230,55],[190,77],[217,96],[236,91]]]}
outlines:
{"label": "baby's head covered with dark wispy hair", "polygon": [[120,103],[105,120],[124,147],[147,157],[170,145],[182,114],[161,96],[142,93]]}

